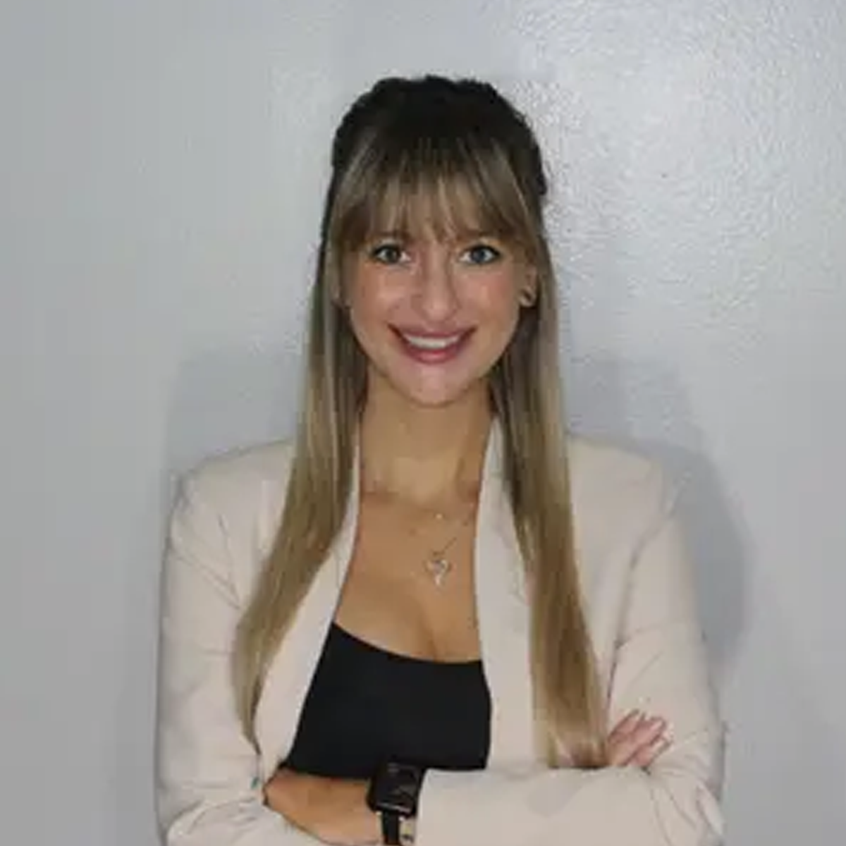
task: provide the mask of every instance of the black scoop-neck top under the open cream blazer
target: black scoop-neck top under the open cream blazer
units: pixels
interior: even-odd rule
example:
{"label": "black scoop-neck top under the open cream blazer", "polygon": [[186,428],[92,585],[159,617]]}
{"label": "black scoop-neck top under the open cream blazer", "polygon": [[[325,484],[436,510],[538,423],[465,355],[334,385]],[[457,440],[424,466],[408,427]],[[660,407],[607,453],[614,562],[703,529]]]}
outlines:
{"label": "black scoop-neck top under the open cream blazer", "polygon": [[387,759],[475,770],[486,764],[490,739],[481,661],[398,655],[333,623],[285,766],[363,779]]}

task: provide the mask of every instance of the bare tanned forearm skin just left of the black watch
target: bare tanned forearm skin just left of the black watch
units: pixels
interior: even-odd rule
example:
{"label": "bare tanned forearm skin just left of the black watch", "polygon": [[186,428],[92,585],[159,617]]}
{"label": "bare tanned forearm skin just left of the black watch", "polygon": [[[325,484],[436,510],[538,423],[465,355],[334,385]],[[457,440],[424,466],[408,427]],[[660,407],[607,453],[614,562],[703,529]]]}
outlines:
{"label": "bare tanned forearm skin just left of the black watch", "polygon": [[269,808],[288,822],[336,846],[382,842],[379,817],[367,807],[367,783],[323,778],[280,767],[265,785]]}

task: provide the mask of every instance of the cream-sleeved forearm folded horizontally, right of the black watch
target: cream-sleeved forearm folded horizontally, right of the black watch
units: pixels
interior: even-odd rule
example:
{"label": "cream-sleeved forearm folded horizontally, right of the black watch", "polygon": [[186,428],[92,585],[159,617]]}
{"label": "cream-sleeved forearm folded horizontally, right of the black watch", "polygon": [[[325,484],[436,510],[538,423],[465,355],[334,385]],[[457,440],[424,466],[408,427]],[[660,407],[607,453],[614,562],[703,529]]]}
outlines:
{"label": "cream-sleeved forearm folded horizontally, right of the black watch", "polygon": [[420,794],[417,846],[539,846],[637,843],[714,846],[722,838],[718,748],[722,738],[691,739],[645,772],[430,771]]}

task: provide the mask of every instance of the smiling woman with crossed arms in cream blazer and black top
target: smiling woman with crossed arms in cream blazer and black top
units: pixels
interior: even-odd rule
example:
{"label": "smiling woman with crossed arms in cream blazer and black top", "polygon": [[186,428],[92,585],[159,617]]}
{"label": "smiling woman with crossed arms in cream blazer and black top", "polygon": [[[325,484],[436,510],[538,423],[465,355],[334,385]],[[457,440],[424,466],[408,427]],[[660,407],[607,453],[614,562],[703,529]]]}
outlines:
{"label": "smiling woman with crossed arms in cream blazer and black top", "polygon": [[299,433],[173,514],[170,846],[720,839],[672,497],[563,436],[546,194],[490,85],[382,80],[343,118]]}

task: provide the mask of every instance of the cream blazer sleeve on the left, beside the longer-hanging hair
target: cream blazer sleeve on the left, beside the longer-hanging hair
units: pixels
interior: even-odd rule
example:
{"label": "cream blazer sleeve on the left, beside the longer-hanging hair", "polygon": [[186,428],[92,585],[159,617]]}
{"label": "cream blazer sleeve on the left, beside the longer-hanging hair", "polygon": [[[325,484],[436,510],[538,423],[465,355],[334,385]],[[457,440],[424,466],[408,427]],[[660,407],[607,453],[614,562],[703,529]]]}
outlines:
{"label": "cream blazer sleeve on the left, beside the longer-hanging hair", "polygon": [[236,714],[230,662],[242,609],[227,523],[209,488],[201,473],[184,480],[164,556],[156,762],[162,842],[313,846],[319,841],[264,805],[258,755]]}

